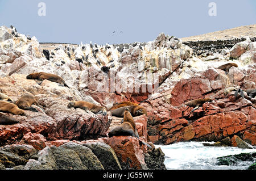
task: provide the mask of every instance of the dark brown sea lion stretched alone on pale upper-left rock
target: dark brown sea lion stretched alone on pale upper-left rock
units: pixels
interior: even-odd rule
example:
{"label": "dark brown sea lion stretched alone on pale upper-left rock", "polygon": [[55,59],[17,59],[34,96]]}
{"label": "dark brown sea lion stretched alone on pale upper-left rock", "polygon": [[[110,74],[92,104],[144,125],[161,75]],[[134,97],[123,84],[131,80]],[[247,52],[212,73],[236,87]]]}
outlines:
{"label": "dark brown sea lion stretched alone on pale upper-left rock", "polygon": [[69,88],[67,83],[65,83],[64,79],[55,74],[44,72],[31,73],[27,75],[27,79],[37,79],[38,81],[40,81],[38,82],[39,85],[42,83],[44,79],[47,79],[48,81],[60,83],[60,86],[67,86]]}

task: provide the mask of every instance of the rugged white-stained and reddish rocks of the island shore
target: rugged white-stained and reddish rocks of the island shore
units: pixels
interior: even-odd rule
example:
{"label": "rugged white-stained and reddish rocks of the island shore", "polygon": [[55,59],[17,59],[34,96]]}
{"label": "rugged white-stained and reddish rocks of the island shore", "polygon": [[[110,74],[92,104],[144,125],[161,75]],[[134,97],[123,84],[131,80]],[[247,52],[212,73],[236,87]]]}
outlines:
{"label": "rugged white-stained and reddish rocks of the island shore", "polygon": [[[23,115],[1,111],[18,123],[0,124],[0,169],[166,169],[154,144],[255,146],[256,25],[242,29],[250,33],[73,45],[0,27],[0,92],[13,103],[27,93],[38,102]],[[27,79],[39,72],[68,87]],[[68,107],[72,100],[108,111]],[[109,109],[122,102],[146,108],[133,115],[138,137],[109,137],[122,121]]]}

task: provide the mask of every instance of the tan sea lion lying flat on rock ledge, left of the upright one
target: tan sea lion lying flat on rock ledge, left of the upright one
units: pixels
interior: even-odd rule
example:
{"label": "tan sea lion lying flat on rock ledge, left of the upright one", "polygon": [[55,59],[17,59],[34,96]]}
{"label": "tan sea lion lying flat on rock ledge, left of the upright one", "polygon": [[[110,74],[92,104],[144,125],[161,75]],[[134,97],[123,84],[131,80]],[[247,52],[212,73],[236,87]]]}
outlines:
{"label": "tan sea lion lying flat on rock ledge, left of the upright one", "polygon": [[93,113],[102,113],[103,115],[106,115],[106,108],[103,106],[97,106],[93,103],[89,103],[86,101],[71,101],[68,103],[68,107],[74,107],[74,108],[81,108],[82,110],[85,110],[86,112],[92,111]]}

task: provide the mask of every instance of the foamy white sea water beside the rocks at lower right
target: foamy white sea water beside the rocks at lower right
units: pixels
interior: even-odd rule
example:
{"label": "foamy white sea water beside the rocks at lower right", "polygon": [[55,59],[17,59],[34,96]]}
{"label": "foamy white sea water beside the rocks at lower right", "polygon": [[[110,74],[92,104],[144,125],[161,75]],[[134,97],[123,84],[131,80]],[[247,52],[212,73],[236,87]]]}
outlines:
{"label": "foamy white sea water beside the rocks at lower right", "polygon": [[214,142],[178,142],[171,145],[155,145],[165,154],[164,164],[168,170],[244,170],[252,162],[240,162],[234,166],[216,165],[217,157],[240,153],[251,153],[253,149],[241,149],[232,146],[204,146],[203,143]]}

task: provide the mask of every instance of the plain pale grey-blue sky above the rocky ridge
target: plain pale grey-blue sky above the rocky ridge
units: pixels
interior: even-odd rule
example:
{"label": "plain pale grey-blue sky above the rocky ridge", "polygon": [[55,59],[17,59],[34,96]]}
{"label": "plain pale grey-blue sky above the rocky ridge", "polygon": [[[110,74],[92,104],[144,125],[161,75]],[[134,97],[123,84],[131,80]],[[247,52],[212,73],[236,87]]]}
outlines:
{"label": "plain pale grey-blue sky above the rocky ridge", "polygon": [[[211,2],[216,16],[209,15]],[[0,26],[44,43],[147,42],[161,32],[181,38],[250,24],[255,0],[0,0]]]}

